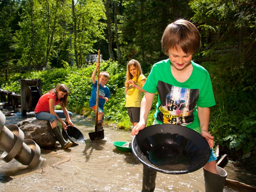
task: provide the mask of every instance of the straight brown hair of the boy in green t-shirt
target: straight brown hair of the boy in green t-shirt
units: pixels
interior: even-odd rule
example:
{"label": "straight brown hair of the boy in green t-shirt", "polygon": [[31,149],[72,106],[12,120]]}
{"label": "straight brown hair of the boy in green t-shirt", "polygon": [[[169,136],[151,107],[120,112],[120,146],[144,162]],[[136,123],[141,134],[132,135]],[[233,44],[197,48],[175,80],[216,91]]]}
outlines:
{"label": "straight brown hair of the boy in green t-shirt", "polygon": [[201,44],[200,33],[191,22],[179,19],[169,24],[162,36],[162,50],[168,55],[168,50],[180,48],[186,54],[195,54]]}

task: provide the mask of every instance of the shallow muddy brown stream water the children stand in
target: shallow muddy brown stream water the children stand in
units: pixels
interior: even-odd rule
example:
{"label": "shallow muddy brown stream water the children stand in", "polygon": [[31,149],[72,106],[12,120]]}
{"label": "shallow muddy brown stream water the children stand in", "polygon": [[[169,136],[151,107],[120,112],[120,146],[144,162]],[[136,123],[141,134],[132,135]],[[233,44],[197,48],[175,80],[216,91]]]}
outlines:
{"label": "shallow muddy brown stream water the children stand in", "polygon": [[[28,117],[34,116],[29,113]],[[20,113],[6,117],[7,124],[24,120]],[[104,127],[103,140],[91,141],[88,133],[94,132],[94,122],[75,115],[75,127],[85,142],[68,149],[41,150],[45,160],[33,170],[16,160],[0,160],[0,191],[72,191],[72,192],[139,192],[142,188],[142,164],[132,154],[116,149],[114,141],[131,142],[131,131]],[[0,154],[2,154],[0,150]],[[155,192],[204,191],[202,168],[189,174],[157,173]],[[224,191],[237,191],[225,187]]]}

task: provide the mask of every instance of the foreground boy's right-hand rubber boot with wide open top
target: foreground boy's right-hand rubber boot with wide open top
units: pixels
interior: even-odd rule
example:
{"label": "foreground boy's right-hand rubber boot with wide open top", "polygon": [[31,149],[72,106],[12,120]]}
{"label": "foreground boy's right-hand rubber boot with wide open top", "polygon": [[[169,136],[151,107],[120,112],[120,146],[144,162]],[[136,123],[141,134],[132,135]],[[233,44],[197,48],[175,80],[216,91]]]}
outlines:
{"label": "foreground boy's right-hand rubber boot with wide open top", "polygon": [[204,188],[206,192],[223,192],[227,172],[216,166],[217,174],[204,170]]}

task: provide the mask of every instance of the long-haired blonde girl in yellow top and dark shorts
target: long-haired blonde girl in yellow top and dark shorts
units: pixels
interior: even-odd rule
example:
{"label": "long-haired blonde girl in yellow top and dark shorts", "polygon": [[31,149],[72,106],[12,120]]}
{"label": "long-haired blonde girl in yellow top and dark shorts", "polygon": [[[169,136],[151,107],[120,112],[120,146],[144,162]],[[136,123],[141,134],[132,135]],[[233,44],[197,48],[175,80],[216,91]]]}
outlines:
{"label": "long-haired blonde girl in yellow top and dark shorts", "polygon": [[137,60],[130,60],[127,64],[125,94],[126,107],[132,126],[135,126],[140,121],[140,102],[142,92],[145,92],[142,87],[146,81],[146,77],[142,74],[140,63]]}

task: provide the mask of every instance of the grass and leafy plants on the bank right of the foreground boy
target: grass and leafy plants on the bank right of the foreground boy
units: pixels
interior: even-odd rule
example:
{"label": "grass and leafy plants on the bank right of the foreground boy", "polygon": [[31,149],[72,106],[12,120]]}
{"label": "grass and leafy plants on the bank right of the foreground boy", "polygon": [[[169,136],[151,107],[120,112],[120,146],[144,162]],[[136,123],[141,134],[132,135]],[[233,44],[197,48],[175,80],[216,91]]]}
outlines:
{"label": "grass and leafy plants on the bank right of the foreground boy", "polygon": [[227,79],[220,73],[222,64],[207,63],[203,66],[210,72],[216,100],[216,106],[211,108],[209,126],[216,144],[230,149],[229,155],[234,159],[250,157],[255,162],[255,91],[237,90],[235,84],[226,86]]}

